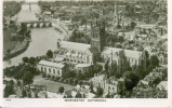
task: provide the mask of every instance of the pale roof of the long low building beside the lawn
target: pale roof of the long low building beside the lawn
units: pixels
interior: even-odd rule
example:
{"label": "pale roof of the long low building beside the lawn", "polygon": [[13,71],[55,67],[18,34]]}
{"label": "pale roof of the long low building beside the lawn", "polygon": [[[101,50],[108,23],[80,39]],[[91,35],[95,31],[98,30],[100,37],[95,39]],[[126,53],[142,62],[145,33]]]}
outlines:
{"label": "pale roof of the long low building beside the lawn", "polygon": [[48,62],[48,60],[41,60],[39,62],[39,65],[45,65],[45,66],[50,66],[50,67],[56,67],[56,68],[63,68],[65,65],[59,63],[53,63],[53,62]]}

